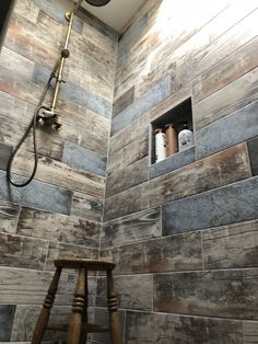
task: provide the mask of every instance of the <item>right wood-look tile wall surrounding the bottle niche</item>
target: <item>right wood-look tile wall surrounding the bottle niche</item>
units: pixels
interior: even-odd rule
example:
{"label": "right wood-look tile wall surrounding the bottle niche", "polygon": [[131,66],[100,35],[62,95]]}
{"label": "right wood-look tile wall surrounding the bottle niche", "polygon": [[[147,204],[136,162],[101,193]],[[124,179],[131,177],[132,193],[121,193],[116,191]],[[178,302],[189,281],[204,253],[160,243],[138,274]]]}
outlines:
{"label": "right wood-look tile wall surrounding the bottle niche", "polygon": [[[257,21],[254,1],[150,0],[119,41],[102,255],[126,344],[258,343]],[[195,148],[149,167],[150,122],[189,96]]]}

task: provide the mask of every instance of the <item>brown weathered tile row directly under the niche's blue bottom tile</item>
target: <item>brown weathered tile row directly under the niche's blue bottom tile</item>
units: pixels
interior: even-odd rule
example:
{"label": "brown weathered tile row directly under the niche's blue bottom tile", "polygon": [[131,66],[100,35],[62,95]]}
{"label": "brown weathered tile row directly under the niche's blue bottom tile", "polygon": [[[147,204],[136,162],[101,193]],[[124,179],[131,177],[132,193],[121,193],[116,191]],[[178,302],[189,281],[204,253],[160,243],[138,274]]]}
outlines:
{"label": "brown weathered tile row directly under the niche's blue bottom tile", "polygon": [[246,145],[241,144],[106,198],[104,220],[189,197],[249,176]]}

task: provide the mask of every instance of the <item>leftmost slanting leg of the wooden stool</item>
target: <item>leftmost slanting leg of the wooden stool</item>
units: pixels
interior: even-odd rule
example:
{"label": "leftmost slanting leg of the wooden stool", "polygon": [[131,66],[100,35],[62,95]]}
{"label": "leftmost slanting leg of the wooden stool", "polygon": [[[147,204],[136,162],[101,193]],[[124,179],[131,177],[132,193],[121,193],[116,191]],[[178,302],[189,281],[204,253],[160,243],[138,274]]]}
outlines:
{"label": "leftmost slanting leg of the wooden stool", "polygon": [[55,275],[52,277],[50,287],[48,289],[47,296],[45,298],[43,309],[37,319],[37,323],[33,333],[32,344],[39,344],[43,341],[45,331],[47,329],[50,311],[55,301],[55,297],[57,294],[58,283],[61,275],[61,267],[57,267]]}

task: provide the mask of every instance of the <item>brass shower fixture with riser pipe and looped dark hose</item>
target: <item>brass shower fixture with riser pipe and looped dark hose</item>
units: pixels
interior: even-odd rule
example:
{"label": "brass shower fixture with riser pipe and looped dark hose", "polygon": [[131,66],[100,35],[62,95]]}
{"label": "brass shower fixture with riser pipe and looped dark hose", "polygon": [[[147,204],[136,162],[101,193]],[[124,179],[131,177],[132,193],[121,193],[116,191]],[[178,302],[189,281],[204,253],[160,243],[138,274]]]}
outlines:
{"label": "brass shower fixture with riser pipe and looped dark hose", "polygon": [[[44,125],[54,127],[56,129],[61,128],[61,115],[57,112],[57,100],[60,91],[60,85],[63,81],[62,74],[63,74],[63,67],[66,59],[69,58],[70,51],[69,51],[69,41],[71,36],[71,30],[72,30],[72,24],[74,20],[74,14],[80,8],[84,0],[79,0],[78,2],[74,2],[73,8],[71,9],[70,12],[66,13],[66,20],[68,22],[68,27],[67,27],[67,34],[66,34],[66,41],[63,48],[61,50],[61,56],[58,58],[49,78],[48,81],[45,85],[45,89],[43,91],[43,94],[38,101],[38,104],[36,106],[36,110],[34,112],[32,122],[30,123],[28,127],[26,128],[24,135],[22,136],[21,140],[16,145],[16,147],[13,149],[11,157],[8,162],[7,167],[7,180],[9,183],[11,183],[13,186],[16,187],[24,187],[27,184],[30,184],[37,171],[37,162],[38,162],[38,157],[37,157],[37,142],[36,142],[36,126],[39,123],[43,123]],[[107,4],[110,0],[85,0],[89,4],[94,5],[94,7],[102,7]],[[54,87],[54,93],[52,93],[52,100],[51,100],[51,105],[50,106],[44,106],[44,101],[46,99],[46,95],[50,89],[51,81],[55,80],[55,87]],[[12,163],[13,159],[15,158],[19,149],[25,141],[25,139],[28,137],[31,130],[33,130],[33,150],[34,150],[34,168],[32,171],[31,176],[27,179],[27,181],[23,183],[16,183],[12,180],[11,176],[11,170],[12,170]]]}

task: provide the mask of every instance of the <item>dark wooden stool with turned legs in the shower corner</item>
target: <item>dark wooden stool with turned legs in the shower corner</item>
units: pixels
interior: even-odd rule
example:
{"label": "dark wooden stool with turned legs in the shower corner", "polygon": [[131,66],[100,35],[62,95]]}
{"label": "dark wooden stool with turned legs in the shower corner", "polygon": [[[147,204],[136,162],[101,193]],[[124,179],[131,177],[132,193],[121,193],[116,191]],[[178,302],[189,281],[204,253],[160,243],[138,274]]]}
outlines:
{"label": "dark wooden stool with turned legs in the shower corner", "polygon": [[[119,316],[117,311],[117,298],[114,289],[113,270],[116,266],[113,263],[103,261],[87,261],[87,260],[57,260],[54,262],[56,272],[52,277],[50,287],[48,289],[43,309],[38,317],[32,344],[39,344],[43,341],[45,331],[56,330],[66,332],[68,329],[68,344],[85,344],[87,333],[110,332],[113,344],[122,344],[121,332],[119,326]],[[78,282],[74,290],[74,299],[72,303],[72,313],[69,324],[55,324],[48,326],[49,316],[54,306],[59,278],[62,268],[79,270]],[[89,271],[106,271],[107,276],[107,299],[109,311],[109,328],[99,326],[87,323],[87,272]]]}

